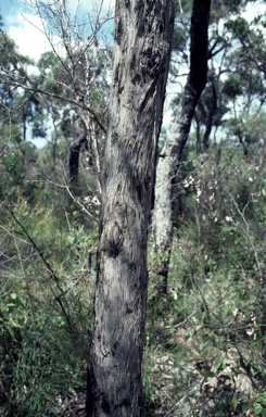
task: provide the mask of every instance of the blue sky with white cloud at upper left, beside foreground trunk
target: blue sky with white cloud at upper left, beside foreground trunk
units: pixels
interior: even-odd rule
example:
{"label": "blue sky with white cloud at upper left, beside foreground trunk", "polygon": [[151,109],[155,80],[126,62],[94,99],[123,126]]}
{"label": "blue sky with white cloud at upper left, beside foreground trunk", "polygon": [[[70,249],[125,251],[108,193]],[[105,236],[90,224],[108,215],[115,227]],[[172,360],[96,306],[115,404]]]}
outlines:
{"label": "blue sky with white cloud at upper left, beside foreground trunk", "polygon": [[[89,37],[94,28],[96,21],[105,23],[99,31],[99,42],[106,43],[112,39],[114,0],[93,0],[81,2],[79,0],[68,0],[68,10],[73,22],[81,27],[86,27],[86,35]],[[50,40],[61,54],[60,39],[56,28],[51,28],[48,22],[38,15],[36,0],[0,0],[0,13],[3,18],[4,29],[17,45],[18,51],[35,61],[38,61],[42,53],[50,51]],[[51,0],[39,3],[52,4]]]}

